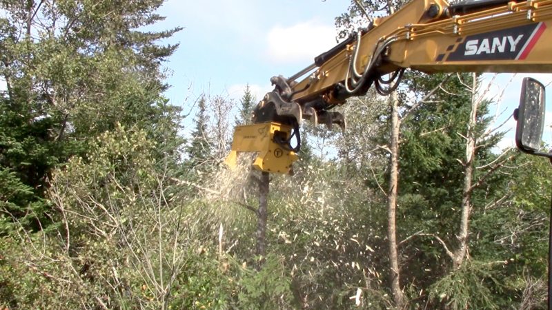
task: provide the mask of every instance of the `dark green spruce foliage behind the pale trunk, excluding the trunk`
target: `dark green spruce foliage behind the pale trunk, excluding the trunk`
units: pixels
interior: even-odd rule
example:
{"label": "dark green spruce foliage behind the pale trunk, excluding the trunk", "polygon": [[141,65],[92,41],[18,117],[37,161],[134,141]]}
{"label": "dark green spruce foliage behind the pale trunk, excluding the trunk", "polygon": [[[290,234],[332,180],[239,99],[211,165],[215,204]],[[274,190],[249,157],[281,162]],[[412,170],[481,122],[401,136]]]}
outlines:
{"label": "dark green spruce foliage behind the pale trunk, excluding the trunk", "polygon": [[[420,231],[424,234],[435,234],[451,251],[455,251],[460,244],[458,236],[465,173],[465,167],[460,161],[466,157],[466,128],[472,107],[472,92],[466,85],[473,84],[471,74],[458,76],[460,79],[454,76],[444,85],[446,92],[437,92],[430,99],[432,103],[420,106],[404,120],[401,130],[401,174],[397,198],[398,218],[408,218],[399,226],[398,233],[402,238],[408,238]],[[424,96],[439,85],[444,76],[410,72],[408,78],[410,91]],[[408,103],[404,100],[402,104]],[[489,101],[482,101],[477,111],[477,125],[473,134],[478,140],[491,123],[489,104]],[[500,141],[501,136],[500,133],[491,134],[479,142],[473,159],[474,167],[484,167],[493,162],[497,155],[493,154],[491,149]],[[473,184],[488,171],[488,168],[475,169]],[[480,208],[500,198],[504,184],[504,176],[495,173],[486,179],[481,187],[473,189],[470,199],[473,208],[470,218],[472,223],[480,220]],[[469,232],[475,225],[470,227]],[[481,231],[478,234],[484,233]],[[444,253],[444,247],[435,243],[434,238],[422,237],[413,242],[412,245],[402,247],[402,255],[408,260],[408,264],[402,267],[405,279],[416,278],[420,287],[431,287],[435,282],[446,279],[451,273],[465,271],[453,269],[449,254]],[[468,242],[469,245],[473,244],[471,238]],[[489,245],[484,247],[489,248]],[[475,261],[500,259],[477,255],[478,251],[477,247],[470,246],[470,254]],[[475,268],[473,266],[469,268]],[[430,269],[431,272],[426,272],[426,269]],[[471,269],[470,272],[479,271]],[[476,282],[463,281],[464,287],[452,289],[448,295],[457,298],[463,290],[473,289]],[[484,299],[482,294],[485,292],[481,287],[471,293],[474,306],[477,304],[476,300]]]}

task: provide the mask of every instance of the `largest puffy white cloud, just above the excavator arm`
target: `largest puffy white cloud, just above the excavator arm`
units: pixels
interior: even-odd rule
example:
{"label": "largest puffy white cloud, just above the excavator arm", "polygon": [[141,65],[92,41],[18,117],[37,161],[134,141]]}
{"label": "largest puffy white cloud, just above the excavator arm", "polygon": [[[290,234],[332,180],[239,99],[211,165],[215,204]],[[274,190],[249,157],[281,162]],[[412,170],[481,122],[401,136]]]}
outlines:
{"label": "largest puffy white cloud, just above the excavator arm", "polygon": [[276,26],[266,37],[266,54],[270,60],[279,63],[310,63],[314,61],[315,56],[337,44],[335,35],[334,25],[317,21],[297,23],[286,28]]}

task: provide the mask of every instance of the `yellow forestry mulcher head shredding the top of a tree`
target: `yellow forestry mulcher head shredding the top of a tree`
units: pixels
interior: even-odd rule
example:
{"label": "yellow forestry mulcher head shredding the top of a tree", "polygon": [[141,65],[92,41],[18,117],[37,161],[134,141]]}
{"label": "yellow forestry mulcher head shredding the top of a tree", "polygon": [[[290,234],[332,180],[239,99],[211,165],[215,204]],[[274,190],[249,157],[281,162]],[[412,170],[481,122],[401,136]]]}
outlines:
{"label": "yellow forestry mulcher head shredding the top of a tree", "polygon": [[287,174],[297,155],[290,147],[290,140],[298,132],[291,133],[292,127],[280,123],[260,123],[235,127],[232,151],[226,157],[226,165],[234,168],[239,153],[258,152],[253,167],[263,172]]}

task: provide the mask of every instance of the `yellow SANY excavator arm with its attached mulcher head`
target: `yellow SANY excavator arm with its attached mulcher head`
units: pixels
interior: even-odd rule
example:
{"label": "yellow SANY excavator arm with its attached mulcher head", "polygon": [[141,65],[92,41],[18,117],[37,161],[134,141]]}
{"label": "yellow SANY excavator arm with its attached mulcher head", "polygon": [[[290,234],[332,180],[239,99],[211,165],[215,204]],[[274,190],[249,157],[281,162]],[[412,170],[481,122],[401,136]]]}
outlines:
{"label": "yellow SANY excavator arm with its attached mulcher head", "polygon": [[[226,163],[234,167],[239,152],[258,152],[256,169],[289,172],[301,144],[303,119],[345,130],[344,116],[331,109],[370,87],[390,94],[406,68],[426,73],[552,73],[550,38],[552,0],[480,0],[452,6],[444,0],[413,0],[371,21],[290,78],[270,79],[275,90],[253,110],[255,124],[236,128]],[[261,128],[270,128],[269,136],[260,134]],[[255,130],[259,134],[251,134]]]}

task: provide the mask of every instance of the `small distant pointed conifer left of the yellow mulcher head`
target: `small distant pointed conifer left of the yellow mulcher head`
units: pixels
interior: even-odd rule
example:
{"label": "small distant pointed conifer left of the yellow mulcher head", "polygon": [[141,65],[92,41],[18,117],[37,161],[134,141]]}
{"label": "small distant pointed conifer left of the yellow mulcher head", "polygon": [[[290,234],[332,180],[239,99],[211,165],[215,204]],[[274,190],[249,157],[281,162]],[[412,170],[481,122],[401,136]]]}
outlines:
{"label": "small distant pointed conifer left of the yellow mulcher head", "polygon": [[197,105],[198,112],[195,116],[195,129],[192,132],[191,143],[186,147],[189,157],[189,167],[192,169],[208,169],[208,161],[211,158],[212,147],[208,136],[209,116],[205,96],[201,96]]}

